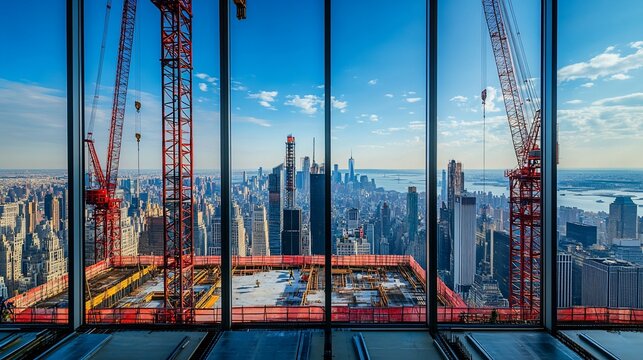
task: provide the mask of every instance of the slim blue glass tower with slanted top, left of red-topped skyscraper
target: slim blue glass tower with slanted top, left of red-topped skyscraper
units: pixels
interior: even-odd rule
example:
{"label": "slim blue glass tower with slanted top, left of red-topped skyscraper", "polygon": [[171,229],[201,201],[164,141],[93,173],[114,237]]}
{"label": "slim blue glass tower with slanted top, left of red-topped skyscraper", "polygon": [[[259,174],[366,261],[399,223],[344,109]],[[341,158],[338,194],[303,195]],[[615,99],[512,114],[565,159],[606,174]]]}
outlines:
{"label": "slim blue glass tower with slanted top, left of red-topped skyscraper", "polygon": [[281,255],[284,209],[283,170],[284,165],[280,164],[272,169],[272,174],[268,175],[268,238],[271,255]]}

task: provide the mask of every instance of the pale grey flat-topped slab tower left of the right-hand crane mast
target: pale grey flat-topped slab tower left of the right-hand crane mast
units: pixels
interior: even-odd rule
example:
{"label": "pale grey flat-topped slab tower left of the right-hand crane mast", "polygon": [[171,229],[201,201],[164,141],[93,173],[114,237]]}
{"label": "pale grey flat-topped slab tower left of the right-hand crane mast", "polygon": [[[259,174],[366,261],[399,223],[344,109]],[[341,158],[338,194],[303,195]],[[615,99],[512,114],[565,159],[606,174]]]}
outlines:
{"label": "pale grey flat-topped slab tower left of the right-hand crane mast", "polygon": [[466,293],[476,273],[476,198],[456,196],[454,209],[453,282]]}

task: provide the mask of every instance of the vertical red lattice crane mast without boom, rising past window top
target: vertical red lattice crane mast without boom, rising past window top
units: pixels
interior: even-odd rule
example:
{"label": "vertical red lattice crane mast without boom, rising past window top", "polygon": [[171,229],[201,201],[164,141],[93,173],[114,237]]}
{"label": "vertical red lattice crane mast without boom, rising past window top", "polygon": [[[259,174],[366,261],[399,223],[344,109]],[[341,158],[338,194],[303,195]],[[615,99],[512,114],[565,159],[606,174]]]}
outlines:
{"label": "vertical red lattice crane mast without boom, rising past window top", "polygon": [[192,234],[192,1],[152,0],[161,11],[165,308],[194,318]]}

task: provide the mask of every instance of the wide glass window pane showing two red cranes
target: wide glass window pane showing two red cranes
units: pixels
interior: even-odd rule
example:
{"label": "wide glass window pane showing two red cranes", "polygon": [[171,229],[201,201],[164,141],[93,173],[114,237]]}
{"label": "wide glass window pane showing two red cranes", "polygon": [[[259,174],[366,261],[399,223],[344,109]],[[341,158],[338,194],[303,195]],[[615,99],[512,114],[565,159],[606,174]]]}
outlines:
{"label": "wide glass window pane showing two red cranes", "polygon": [[85,2],[89,323],[220,317],[218,6],[190,6]]}

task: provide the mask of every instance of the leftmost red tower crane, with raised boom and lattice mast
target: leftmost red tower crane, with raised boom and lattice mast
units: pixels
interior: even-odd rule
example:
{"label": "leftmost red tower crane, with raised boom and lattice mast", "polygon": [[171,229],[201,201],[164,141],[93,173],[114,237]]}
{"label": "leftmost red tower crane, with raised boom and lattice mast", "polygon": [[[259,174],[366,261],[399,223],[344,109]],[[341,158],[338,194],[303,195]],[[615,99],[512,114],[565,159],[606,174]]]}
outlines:
{"label": "leftmost red tower crane, with raised boom and lattice mast", "polygon": [[[108,2],[107,9],[111,7]],[[108,19],[108,15],[106,15]],[[112,101],[112,117],[109,128],[109,142],[107,147],[107,166],[105,172],[100,165],[93,137],[93,116],[87,132],[87,148],[90,156],[90,174],[94,178],[93,188],[86,191],[87,204],[93,207],[92,217],[94,222],[94,261],[105,260],[110,262],[115,256],[120,256],[121,249],[121,200],[116,198],[118,187],[118,165],[121,156],[121,140],[123,135],[123,120],[125,118],[125,105],[127,102],[127,83],[129,79],[130,63],[132,58],[132,45],[134,39],[134,25],[136,19],[136,0],[125,0],[123,3],[123,16],[121,20],[121,34],[118,43],[118,58],[116,65],[116,79],[114,84],[114,98]],[[107,29],[107,25],[105,30]],[[100,86],[100,73],[102,71],[102,56],[105,47],[105,34],[101,48],[101,63],[97,81],[97,91]],[[94,97],[96,101],[97,95]],[[96,103],[94,102],[94,105]]]}

